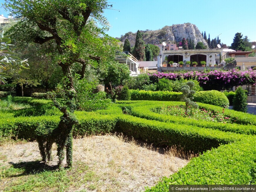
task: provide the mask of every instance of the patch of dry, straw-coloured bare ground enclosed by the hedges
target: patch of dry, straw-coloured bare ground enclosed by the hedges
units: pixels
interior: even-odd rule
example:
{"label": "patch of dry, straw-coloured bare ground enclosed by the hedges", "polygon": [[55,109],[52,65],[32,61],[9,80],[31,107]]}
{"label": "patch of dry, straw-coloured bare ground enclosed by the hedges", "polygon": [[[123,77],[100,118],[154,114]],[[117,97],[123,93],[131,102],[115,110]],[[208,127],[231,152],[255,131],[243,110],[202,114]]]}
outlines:
{"label": "patch of dry, straw-coloured bare ground enclosed by the hedges", "polygon": [[[122,135],[74,139],[73,149],[74,168],[82,162],[97,179],[71,185],[67,191],[144,191],[145,186],[154,186],[159,178],[171,175],[189,162],[177,157],[180,151],[157,148]],[[56,145],[52,150],[53,161],[48,164],[56,165]],[[41,161],[36,142],[6,142],[0,154],[6,157],[5,161],[0,160],[0,165]]]}

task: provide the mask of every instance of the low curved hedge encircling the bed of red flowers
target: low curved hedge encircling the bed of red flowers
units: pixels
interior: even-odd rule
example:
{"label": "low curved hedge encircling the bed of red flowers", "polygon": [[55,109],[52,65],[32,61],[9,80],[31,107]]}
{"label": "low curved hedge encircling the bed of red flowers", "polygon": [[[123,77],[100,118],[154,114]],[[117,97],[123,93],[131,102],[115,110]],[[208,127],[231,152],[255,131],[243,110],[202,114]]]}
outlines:
{"label": "low curved hedge encircling the bed of red flowers", "polygon": [[[129,107],[130,111],[129,114],[133,116],[137,116],[140,118],[146,118],[149,120],[157,120],[157,121],[163,121],[163,122],[170,122],[170,123],[177,123],[177,124],[185,124],[185,125],[191,125],[191,126],[197,126],[201,128],[210,128],[210,129],[218,129],[220,131],[230,131],[233,133],[242,133],[242,134],[248,134],[248,135],[256,135],[256,126],[253,125],[240,125],[240,124],[235,124],[235,123],[217,123],[217,122],[209,122],[205,120],[196,120],[193,118],[183,118],[180,116],[171,116],[171,115],[163,115],[163,114],[158,114],[152,112],[153,108],[157,107],[162,107],[163,105],[165,106],[177,106],[177,105],[184,105],[184,102],[164,102],[164,101],[154,101],[152,103],[151,101],[141,101],[140,103],[124,103],[124,102],[118,102],[120,103],[119,106],[124,108],[124,107]],[[201,108],[207,108],[213,111],[222,111],[222,108],[220,107],[215,107],[212,105],[207,105],[203,103],[198,103]],[[206,107],[207,106],[207,107]],[[232,111],[229,109],[225,109],[225,111]],[[233,111],[232,111],[233,112]],[[236,112],[240,114],[240,116],[247,116],[248,118],[254,118],[255,116],[251,114],[245,114],[241,112]],[[225,112],[224,112],[225,114]],[[235,117],[233,117],[235,118]],[[235,118],[236,119],[236,118]],[[237,118],[238,119],[238,118]],[[246,119],[246,118],[244,118]],[[240,123],[241,121],[238,121]],[[242,124],[245,124],[245,121],[242,121]]]}

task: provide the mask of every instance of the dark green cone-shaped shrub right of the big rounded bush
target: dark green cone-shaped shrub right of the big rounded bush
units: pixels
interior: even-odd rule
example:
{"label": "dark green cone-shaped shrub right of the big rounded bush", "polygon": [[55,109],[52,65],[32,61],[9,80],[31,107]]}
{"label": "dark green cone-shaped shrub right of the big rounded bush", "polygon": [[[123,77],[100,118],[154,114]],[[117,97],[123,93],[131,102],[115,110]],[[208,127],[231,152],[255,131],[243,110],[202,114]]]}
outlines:
{"label": "dark green cone-shaped shrub right of the big rounded bush", "polygon": [[247,95],[242,87],[238,87],[235,91],[235,96],[233,99],[233,110],[235,111],[247,111]]}

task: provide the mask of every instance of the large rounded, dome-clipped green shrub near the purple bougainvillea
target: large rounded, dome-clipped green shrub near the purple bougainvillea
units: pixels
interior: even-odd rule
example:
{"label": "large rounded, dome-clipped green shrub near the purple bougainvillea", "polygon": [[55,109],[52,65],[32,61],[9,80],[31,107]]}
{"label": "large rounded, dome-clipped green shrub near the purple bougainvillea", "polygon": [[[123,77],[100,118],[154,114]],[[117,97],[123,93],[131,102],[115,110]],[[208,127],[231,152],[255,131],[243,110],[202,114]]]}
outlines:
{"label": "large rounded, dome-clipped green shrub near the purple bougainvillea", "polygon": [[224,93],[216,90],[199,91],[194,95],[194,101],[227,108],[229,101]]}

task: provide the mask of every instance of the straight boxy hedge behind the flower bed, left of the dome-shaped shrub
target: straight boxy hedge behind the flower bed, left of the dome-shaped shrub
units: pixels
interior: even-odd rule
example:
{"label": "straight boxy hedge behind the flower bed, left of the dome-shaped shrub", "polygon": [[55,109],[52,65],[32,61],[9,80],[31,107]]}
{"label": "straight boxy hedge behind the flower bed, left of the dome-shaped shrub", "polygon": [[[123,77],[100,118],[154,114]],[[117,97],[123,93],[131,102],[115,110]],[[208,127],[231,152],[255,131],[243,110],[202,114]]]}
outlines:
{"label": "straight boxy hedge behind the flower bed, left of the dome-shaped shrub", "polygon": [[130,90],[131,100],[179,101],[182,93],[172,91]]}

